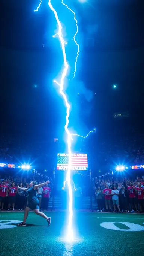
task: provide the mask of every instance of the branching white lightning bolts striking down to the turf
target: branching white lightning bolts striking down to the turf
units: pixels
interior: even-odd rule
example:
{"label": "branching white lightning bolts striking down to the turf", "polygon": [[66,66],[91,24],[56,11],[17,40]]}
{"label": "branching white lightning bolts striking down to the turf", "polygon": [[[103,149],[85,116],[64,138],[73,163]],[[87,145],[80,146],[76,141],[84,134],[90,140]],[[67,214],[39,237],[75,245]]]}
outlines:
{"label": "branching white lightning bolts striking down to the turf", "polygon": [[[42,0],[40,0],[40,4],[42,3]],[[39,6],[37,7],[37,9],[35,11],[38,11],[39,7],[40,7],[40,4]],[[74,20],[76,22],[76,27],[77,27],[77,32],[75,33],[74,35],[74,41],[75,41],[75,44],[78,46],[78,52],[77,52],[77,57],[76,57],[76,60],[75,60],[75,71],[74,71],[74,76],[73,78],[75,77],[75,72],[77,71],[77,59],[78,59],[78,56],[79,56],[79,52],[80,52],[80,46],[79,44],[77,43],[77,41],[75,40],[75,37],[78,33],[78,21],[76,19],[76,15],[75,15],[75,12],[72,11],[72,9],[70,9],[68,7],[68,5],[66,5],[65,3],[63,3],[63,0],[62,0],[62,4],[65,5],[73,14],[74,14]],[[54,9],[54,7],[52,6],[51,4],[51,0],[48,0],[48,5],[49,5],[49,8],[51,9],[52,12],[54,12],[54,15],[55,15],[55,19],[57,21],[57,24],[58,24],[58,32],[57,34],[54,35],[54,37],[57,35],[59,40],[60,40],[60,44],[61,44],[61,47],[62,47],[62,52],[63,52],[63,62],[64,62],[64,68],[62,70],[62,75],[61,75],[61,79],[60,79],[60,82],[57,82],[56,80],[54,80],[54,82],[59,86],[59,93],[62,95],[62,98],[65,102],[65,105],[66,105],[66,124],[65,124],[65,131],[66,131],[66,134],[67,134],[67,144],[68,144],[68,154],[69,154],[69,165],[68,165],[68,170],[67,170],[67,174],[66,174],[66,181],[64,182],[64,186],[65,186],[65,183],[67,182],[68,183],[68,191],[69,191],[69,220],[68,220],[68,231],[67,231],[67,241],[69,242],[72,242],[74,240],[74,232],[73,232],[73,229],[72,229],[72,217],[73,217],[73,209],[72,209],[72,202],[73,202],[73,196],[72,196],[72,186],[71,186],[71,169],[72,169],[72,151],[71,151],[71,145],[72,145],[72,136],[80,136],[80,137],[83,137],[83,138],[86,138],[89,133],[92,133],[93,131],[90,131],[87,136],[81,136],[79,134],[72,134],[70,133],[69,129],[68,129],[68,125],[69,125],[69,115],[70,115],[70,104],[68,102],[68,99],[66,97],[66,94],[65,92],[63,91],[64,90],[64,80],[67,76],[67,73],[68,73],[68,69],[69,69],[69,65],[68,65],[68,61],[67,61],[67,58],[66,58],[66,50],[65,50],[65,44],[67,44],[63,38],[63,34],[62,34],[62,24],[60,23],[60,20],[58,18],[58,14],[57,14],[57,11]],[[95,130],[94,130],[95,131]]]}

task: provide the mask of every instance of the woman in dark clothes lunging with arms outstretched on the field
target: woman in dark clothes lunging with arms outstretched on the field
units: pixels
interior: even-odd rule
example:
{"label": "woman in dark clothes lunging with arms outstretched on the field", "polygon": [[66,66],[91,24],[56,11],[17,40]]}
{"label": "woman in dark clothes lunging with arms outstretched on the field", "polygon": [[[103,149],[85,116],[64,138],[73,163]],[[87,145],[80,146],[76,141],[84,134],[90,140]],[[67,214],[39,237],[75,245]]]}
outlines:
{"label": "woman in dark clothes lunging with arms outstretched on the field", "polygon": [[22,189],[22,190],[26,191],[26,193],[28,194],[27,206],[24,210],[24,219],[23,219],[23,222],[18,224],[18,226],[26,226],[26,219],[28,217],[28,212],[30,210],[33,210],[37,215],[40,215],[43,218],[45,218],[48,222],[48,226],[51,224],[51,218],[47,217],[43,212],[39,211],[39,200],[36,197],[36,189],[38,187],[42,187],[44,185],[47,185],[48,183],[49,183],[49,181],[46,181],[45,183],[41,183],[41,184],[37,185],[36,181],[31,181],[30,188],[25,188],[25,187],[19,187],[18,186],[18,189]]}

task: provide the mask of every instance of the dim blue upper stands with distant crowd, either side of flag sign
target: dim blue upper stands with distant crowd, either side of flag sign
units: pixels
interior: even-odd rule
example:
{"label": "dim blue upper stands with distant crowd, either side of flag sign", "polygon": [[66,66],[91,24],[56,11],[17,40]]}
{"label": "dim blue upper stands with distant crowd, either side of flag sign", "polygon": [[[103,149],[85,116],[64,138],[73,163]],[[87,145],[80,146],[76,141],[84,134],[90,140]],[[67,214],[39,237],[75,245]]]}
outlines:
{"label": "dim blue upper stands with distant crowd, either side of flag sign", "polygon": [[[2,136],[0,138],[0,161],[15,163],[17,159],[21,161],[21,159],[28,158],[31,162],[37,159],[37,162],[43,163],[43,165],[48,162],[52,163],[54,167],[56,162],[54,155],[56,156],[57,150],[63,151],[63,144],[59,140],[53,141],[50,151],[49,148],[42,147],[43,144],[42,141],[28,143],[26,139],[15,140],[11,137]],[[91,141],[91,137],[89,140],[82,139],[78,142],[76,151],[89,154],[89,163],[92,169],[111,169],[117,162],[129,163],[129,165],[144,163],[144,140],[141,136],[134,134],[107,136],[106,138],[99,138],[96,142],[95,138]]]}

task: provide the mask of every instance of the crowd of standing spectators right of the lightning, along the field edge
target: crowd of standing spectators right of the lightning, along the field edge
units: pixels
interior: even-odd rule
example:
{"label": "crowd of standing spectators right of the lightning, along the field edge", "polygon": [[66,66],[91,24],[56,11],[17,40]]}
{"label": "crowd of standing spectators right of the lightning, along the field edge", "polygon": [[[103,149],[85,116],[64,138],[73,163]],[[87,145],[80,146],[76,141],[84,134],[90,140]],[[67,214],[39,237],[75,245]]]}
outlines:
{"label": "crowd of standing spectators right of the lightning, along the field edge", "polygon": [[133,182],[124,177],[122,180],[96,178],[94,189],[97,212],[144,212],[144,176],[137,177]]}

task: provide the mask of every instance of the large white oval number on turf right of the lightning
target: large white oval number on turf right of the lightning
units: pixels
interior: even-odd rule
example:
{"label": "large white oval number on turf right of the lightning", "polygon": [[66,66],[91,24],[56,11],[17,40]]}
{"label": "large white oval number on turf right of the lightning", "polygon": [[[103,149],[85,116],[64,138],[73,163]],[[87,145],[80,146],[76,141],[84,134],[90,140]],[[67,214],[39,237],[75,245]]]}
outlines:
{"label": "large white oval number on turf right of the lightning", "polygon": [[[119,227],[115,226],[115,223],[123,224],[127,227],[127,229],[120,229]],[[105,229],[112,229],[112,230],[118,230],[118,231],[144,231],[144,226],[141,226],[139,224],[130,223],[130,222],[102,222],[101,227],[104,227]]]}

